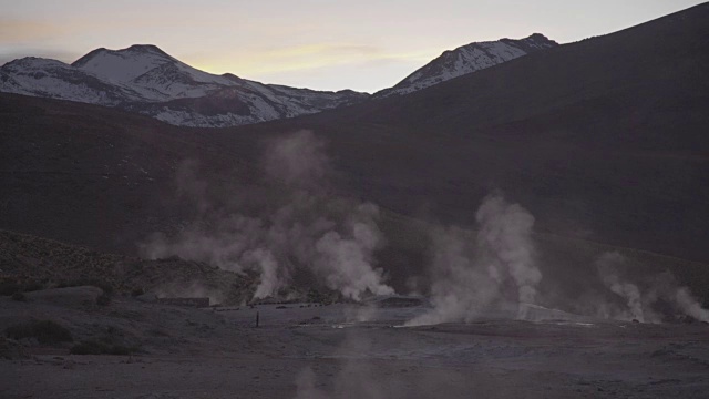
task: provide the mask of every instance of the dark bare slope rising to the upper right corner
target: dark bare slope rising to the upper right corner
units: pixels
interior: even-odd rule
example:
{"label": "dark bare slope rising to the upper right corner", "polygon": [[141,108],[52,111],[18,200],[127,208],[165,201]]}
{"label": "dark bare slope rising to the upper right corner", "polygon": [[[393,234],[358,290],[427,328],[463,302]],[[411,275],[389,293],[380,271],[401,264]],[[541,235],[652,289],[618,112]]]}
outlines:
{"label": "dark bare slope rising to the upper right corner", "polygon": [[312,129],[353,192],[404,214],[473,225],[476,204],[502,190],[542,231],[706,262],[708,109],[701,4],[409,95],[237,132]]}

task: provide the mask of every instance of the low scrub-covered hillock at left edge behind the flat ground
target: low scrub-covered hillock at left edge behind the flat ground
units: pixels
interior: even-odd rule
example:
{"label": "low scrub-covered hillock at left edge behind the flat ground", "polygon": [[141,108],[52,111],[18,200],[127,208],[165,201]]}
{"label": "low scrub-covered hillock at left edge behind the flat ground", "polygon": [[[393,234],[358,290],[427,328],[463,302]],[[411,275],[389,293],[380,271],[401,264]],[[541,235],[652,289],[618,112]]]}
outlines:
{"label": "low scrub-covered hillock at left edge behind the flat ground", "polygon": [[18,293],[90,285],[102,288],[106,295],[196,291],[209,296],[216,293],[220,301],[238,304],[250,297],[253,283],[254,276],[220,270],[204,263],[102,254],[0,231],[0,294],[16,295],[17,300],[21,300]]}

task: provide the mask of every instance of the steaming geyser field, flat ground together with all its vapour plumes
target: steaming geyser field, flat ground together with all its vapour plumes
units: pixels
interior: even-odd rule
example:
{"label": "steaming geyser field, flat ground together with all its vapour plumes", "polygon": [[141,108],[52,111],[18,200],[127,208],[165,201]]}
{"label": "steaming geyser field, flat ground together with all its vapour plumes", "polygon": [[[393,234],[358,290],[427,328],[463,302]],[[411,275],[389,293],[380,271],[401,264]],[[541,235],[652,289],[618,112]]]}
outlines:
{"label": "steaming geyser field, flat ground together with all its vapour plumes", "polygon": [[[194,218],[141,241],[153,263],[121,260],[123,274],[112,270],[111,279],[131,284],[109,298],[106,287],[55,288],[41,263],[28,266],[49,289],[0,298],[8,337],[0,352],[11,359],[0,362],[2,392],[317,399],[709,391],[709,311],[691,280],[662,267],[676,260],[536,233],[534,215],[499,191],[471,204],[474,226],[393,228],[377,204],[336,195],[327,143],[311,132],[269,142],[261,166],[268,195],[219,187],[216,201],[199,165],[183,163],[177,195]],[[9,237],[3,245],[13,250],[41,244]],[[12,244],[22,239],[30,244]],[[402,247],[418,250],[397,263]],[[148,265],[156,270],[150,277]],[[202,275],[175,277],[175,265],[198,266]],[[208,297],[212,306],[156,296]],[[40,331],[47,320],[54,327]]]}

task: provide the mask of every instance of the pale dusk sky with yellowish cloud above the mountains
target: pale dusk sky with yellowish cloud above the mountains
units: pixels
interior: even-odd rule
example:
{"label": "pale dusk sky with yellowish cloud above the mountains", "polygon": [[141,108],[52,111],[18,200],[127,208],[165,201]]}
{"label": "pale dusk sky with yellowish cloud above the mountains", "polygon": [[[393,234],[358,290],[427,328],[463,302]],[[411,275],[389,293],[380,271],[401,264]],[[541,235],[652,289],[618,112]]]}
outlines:
{"label": "pale dusk sky with yellowish cloud above the mountains", "polygon": [[0,64],[71,63],[97,48],[155,44],[212,73],[316,90],[376,92],[444,50],[543,33],[612,33],[685,0],[0,0]]}

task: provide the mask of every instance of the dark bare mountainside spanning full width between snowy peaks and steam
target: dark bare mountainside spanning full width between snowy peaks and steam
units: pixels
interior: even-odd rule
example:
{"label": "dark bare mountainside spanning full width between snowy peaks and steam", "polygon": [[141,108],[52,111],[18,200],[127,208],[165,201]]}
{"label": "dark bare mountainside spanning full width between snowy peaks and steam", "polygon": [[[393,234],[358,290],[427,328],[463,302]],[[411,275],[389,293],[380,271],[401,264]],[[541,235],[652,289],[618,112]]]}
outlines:
{"label": "dark bare mountainside spanning full width between snowy peaks and steam", "polygon": [[[706,265],[708,109],[709,4],[408,95],[220,130],[2,93],[0,228],[134,254],[199,214],[186,191],[224,208],[278,201],[258,184],[264,145],[311,130],[331,160],[327,190],[388,221],[474,227],[482,198],[502,191],[553,242],[540,265],[559,274],[593,270],[577,255],[594,246]],[[189,186],[185,160],[199,164]],[[390,225],[380,265],[425,263],[427,235]]]}

